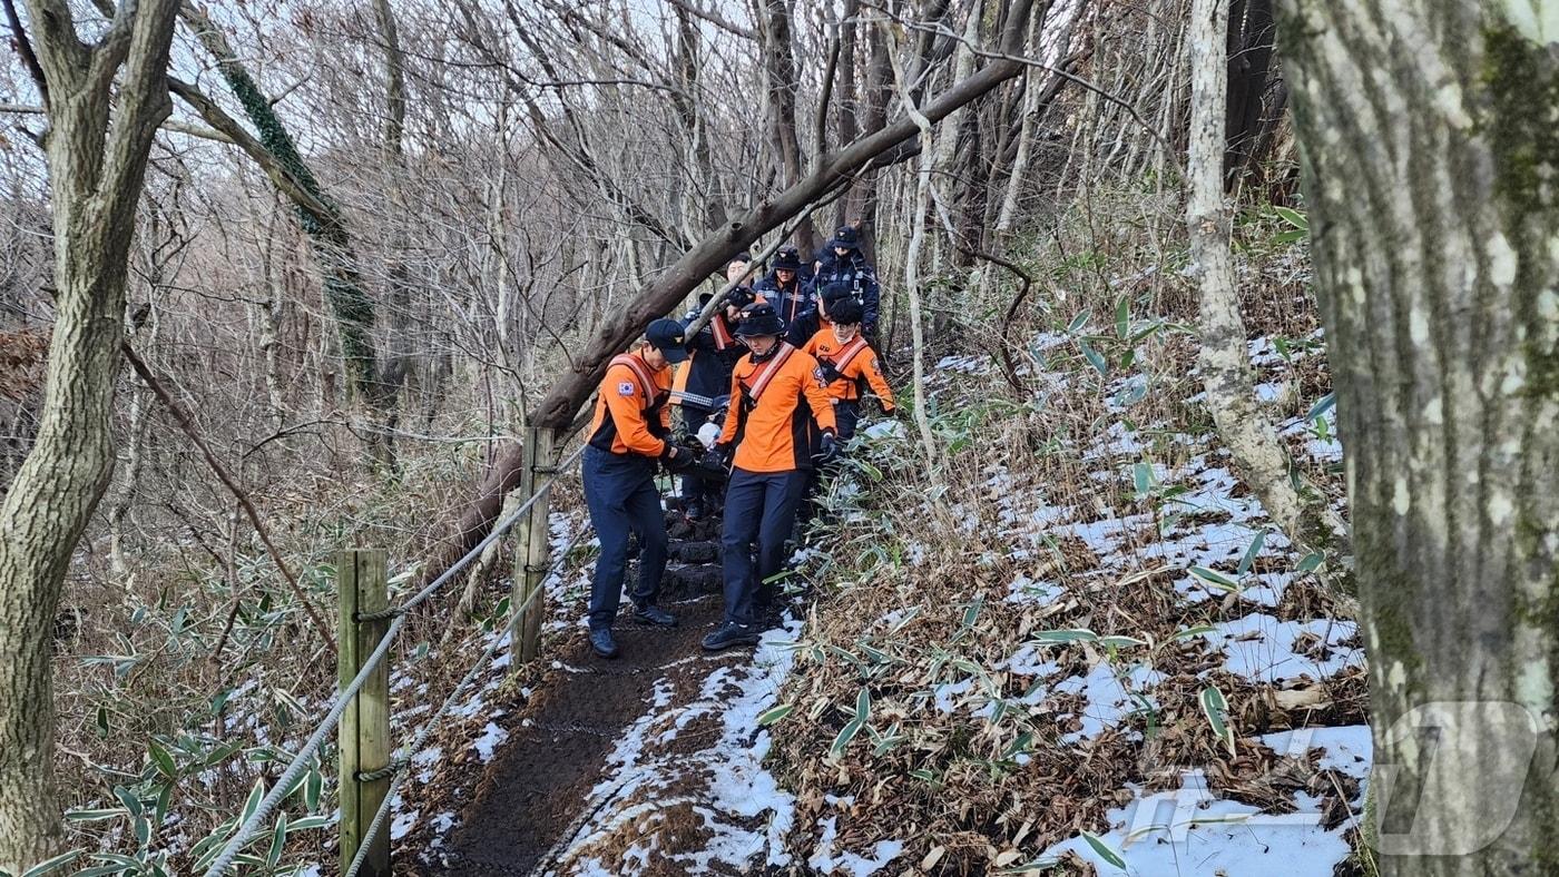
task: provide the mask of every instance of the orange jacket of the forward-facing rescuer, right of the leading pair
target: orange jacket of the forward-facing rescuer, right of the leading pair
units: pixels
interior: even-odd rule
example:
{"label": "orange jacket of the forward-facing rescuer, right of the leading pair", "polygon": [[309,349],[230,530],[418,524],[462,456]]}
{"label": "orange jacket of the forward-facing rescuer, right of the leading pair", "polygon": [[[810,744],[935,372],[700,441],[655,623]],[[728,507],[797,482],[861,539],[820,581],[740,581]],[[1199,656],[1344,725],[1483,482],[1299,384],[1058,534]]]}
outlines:
{"label": "orange jacket of the forward-facing rescuer, right of the leading pair", "polygon": [[834,405],[811,354],[781,341],[761,363],[755,363],[751,354],[736,363],[731,408],[725,413],[720,441],[736,441],[741,433],[734,460],[739,469],[811,469],[814,428],[834,428]]}

